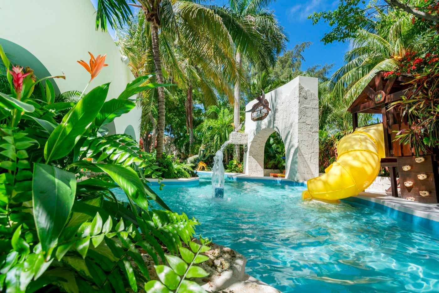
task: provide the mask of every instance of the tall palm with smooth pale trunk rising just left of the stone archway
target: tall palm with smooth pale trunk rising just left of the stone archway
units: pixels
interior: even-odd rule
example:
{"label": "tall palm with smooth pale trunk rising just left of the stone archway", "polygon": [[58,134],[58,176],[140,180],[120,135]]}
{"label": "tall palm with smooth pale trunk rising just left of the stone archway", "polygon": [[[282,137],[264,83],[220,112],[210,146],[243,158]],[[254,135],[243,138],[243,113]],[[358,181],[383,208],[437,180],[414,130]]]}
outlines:
{"label": "tall palm with smooth pale trunk rising just left of the stone archway", "polygon": [[[288,37],[278,24],[275,15],[266,9],[271,0],[229,0],[229,7],[213,7],[222,19],[232,36],[236,51],[237,66],[241,69],[242,58],[247,58],[261,70],[274,65],[276,56],[285,48]],[[253,27],[246,28],[245,22]],[[237,35],[238,30],[244,30],[245,35]],[[234,89],[234,125],[240,125],[240,96],[241,78],[237,78]],[[235,146],[235,159],[240,160],[239,146]]]}

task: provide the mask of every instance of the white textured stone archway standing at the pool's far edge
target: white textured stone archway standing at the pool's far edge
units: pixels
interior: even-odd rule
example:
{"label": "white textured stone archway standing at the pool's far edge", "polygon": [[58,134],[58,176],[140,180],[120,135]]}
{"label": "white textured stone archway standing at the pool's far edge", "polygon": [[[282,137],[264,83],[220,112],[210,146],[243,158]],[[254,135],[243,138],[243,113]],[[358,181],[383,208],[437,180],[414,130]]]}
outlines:
{"label": "white textured stone archway standing at the pool's far edge", "polygon": [[[319,102],[318,80],[296,77],[280,88],[266,94],[271,111],[261,121],[252,121],[251,112],[245,116],[247,151],[245,173],[263,176],[264,147],[273,132],[278,132],[286,150],[285,178],[308,180],[318,176],[319,160]],[[253,100],[246,105],[252,109]]]}

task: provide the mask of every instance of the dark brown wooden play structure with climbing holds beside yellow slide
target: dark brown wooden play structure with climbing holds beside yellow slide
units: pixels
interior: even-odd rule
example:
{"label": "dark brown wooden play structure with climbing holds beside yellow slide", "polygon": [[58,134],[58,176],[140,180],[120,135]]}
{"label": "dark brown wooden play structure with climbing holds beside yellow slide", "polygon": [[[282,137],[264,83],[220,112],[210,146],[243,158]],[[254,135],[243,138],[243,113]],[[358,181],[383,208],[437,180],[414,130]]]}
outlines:
{"label": "dark brown wooden play structure with climbing holds beside yellow slide", "polygon": [[[385,143],[385,158],[381,159],[381,167],[390,169],[392,196],[418,202],[437,203],[439,202],[437,154],[420,154],[417,157],[408,145],[400,144],[395,139],[396,133],[408,128],[408,125],[404,124],[403,117],[395,108],[389,110],[390,103],[402,99],[402,96],[410,90],[410,85],[405,83],[412,79],[403,75],[386,79],[383,73],[377,73],[349,106],[353,130],[358,127],[358,113],[381,114]],[[396,179],[397,173],[399,180]]]}

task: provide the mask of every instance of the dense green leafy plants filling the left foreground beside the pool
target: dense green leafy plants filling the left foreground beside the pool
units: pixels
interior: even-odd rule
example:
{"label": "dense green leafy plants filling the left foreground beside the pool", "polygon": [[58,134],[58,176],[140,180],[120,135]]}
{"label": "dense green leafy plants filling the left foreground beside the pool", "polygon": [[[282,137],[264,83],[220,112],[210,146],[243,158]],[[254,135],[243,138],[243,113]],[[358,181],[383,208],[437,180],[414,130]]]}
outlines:
{"label": "dense green leafy plants filling the left foreground beside the pool", "polygon": [[[1,46],[0,56],[9,69]],[[119,95],[122,103],[106,101],[109,84],[78,102],[56,102],[46,81],[45,99],[36,101],[39,81],[30,69],[13,68],[11,94],[0,93],[0,290],[137,292],[151,279],[142,253],[165,263],[190,245],[198,222],[151,190],[144,173],[154,166],[133,139],[98,134],[132,109],[131,95],[159,85],[138,77]],[[84,179],[84,168],[105,176]]]}

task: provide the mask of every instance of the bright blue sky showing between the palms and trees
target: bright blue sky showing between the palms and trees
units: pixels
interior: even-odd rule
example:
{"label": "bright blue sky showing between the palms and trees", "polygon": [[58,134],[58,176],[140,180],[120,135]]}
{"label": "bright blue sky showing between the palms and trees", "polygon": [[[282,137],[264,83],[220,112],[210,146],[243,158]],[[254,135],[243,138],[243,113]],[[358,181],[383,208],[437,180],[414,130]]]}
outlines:
{"label": "bright blue sky showing between the palms and trees", "polygon": [[[96,7],[97,0],[91,0]],[[227,5],[228,0],[213,0],[217,5]],[[343,56],[349,49],[349,43],[333,43],[324,45],[320,40],[330,27],[324,23],[312,24],[308,15],[313,12],[332,10],[337,7],[338,0],[277,0],[268,7],[274,11],[281,26],[290,39],[287,50],[296,44],[311,41],[313,44],[304,52],[305,62],[302,70],[314,65],[334,63],[331,73],[343,65]],[[114,36],[114,32],[110,32]]]}

